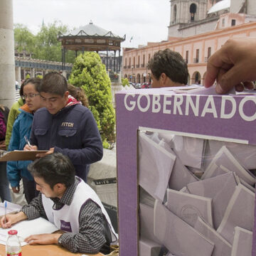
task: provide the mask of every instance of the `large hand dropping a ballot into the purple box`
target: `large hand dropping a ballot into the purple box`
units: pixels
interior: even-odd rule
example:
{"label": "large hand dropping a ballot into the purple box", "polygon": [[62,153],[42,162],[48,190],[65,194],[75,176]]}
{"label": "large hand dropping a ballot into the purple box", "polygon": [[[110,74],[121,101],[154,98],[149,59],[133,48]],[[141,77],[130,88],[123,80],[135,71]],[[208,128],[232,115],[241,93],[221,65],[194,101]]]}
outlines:
{"label": "large hand dropping a ballot into the purple box", "polygon": [[234,86],[253,89],[256,80],[256,38],[229,39],[208,60],[205,86],[217,80],[216,92],[223,94]]}

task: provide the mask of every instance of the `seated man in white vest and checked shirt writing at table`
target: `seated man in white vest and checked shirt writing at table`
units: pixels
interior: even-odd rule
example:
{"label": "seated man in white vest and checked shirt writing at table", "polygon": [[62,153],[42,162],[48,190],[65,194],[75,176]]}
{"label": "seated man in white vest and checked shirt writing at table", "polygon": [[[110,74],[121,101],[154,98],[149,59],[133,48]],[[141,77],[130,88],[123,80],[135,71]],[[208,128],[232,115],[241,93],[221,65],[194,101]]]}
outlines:
{"label": "seated man in white vest and checked shirt writing at table", "polygon": [[1,227],[10,228],[21,220],[43,217],[63,230],[63,234],[31,235],[31,245],[58,244],[71,252],[109,253],[110,242],[117,240],[107,212],[95,191],[81,178],[67,156],[53,153],[28,166],[36,181],[38,197],[21,212],[1,218]]}

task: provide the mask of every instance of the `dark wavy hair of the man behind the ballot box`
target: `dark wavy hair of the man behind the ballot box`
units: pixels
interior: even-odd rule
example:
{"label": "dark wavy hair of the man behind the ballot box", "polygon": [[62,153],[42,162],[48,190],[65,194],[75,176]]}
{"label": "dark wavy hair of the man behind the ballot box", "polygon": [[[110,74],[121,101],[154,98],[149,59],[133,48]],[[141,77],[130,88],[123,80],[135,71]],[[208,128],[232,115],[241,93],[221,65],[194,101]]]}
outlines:
{"label": "dark wavy hair of the man behind the ballot box", "polygon": [[169,48],[154,53],[153,58],[149,60],[148,68],[157,80],[165,73],[173,82],[184,85],[188,82],[188,65],[181,54]]}

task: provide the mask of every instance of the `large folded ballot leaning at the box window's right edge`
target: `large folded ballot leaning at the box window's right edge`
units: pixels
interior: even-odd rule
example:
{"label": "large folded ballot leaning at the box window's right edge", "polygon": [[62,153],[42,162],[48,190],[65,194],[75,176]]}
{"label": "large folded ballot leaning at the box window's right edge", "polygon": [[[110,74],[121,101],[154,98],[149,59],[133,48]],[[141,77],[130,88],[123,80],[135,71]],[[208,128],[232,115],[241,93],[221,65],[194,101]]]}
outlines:
{"label": "large folded ballot leaning at the box window's right edge", "polygon": [[236,226],[252,231],[254,210],[255,193],[239,183],[232,198],[230,198],[223,220],[218,227],[218,233],[228,242],[233,243]]}

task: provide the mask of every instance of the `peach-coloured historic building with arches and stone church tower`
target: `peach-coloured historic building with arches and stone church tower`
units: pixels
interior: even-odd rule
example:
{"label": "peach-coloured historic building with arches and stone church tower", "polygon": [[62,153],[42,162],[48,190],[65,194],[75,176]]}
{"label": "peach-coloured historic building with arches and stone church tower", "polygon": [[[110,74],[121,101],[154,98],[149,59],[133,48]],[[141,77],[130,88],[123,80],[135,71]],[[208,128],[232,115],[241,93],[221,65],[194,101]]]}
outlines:
{"label": "peach-coloured historic building with arches and stone church tower", "polygon": [[256,36],[256,6],[251,4],[252,0],[171,0],[169,40],[123,48],[122,77],[149,82],[150,58],[156,51],[170,48],[188,63],[188,84],[204,84],[208,58],[225,41]]}

